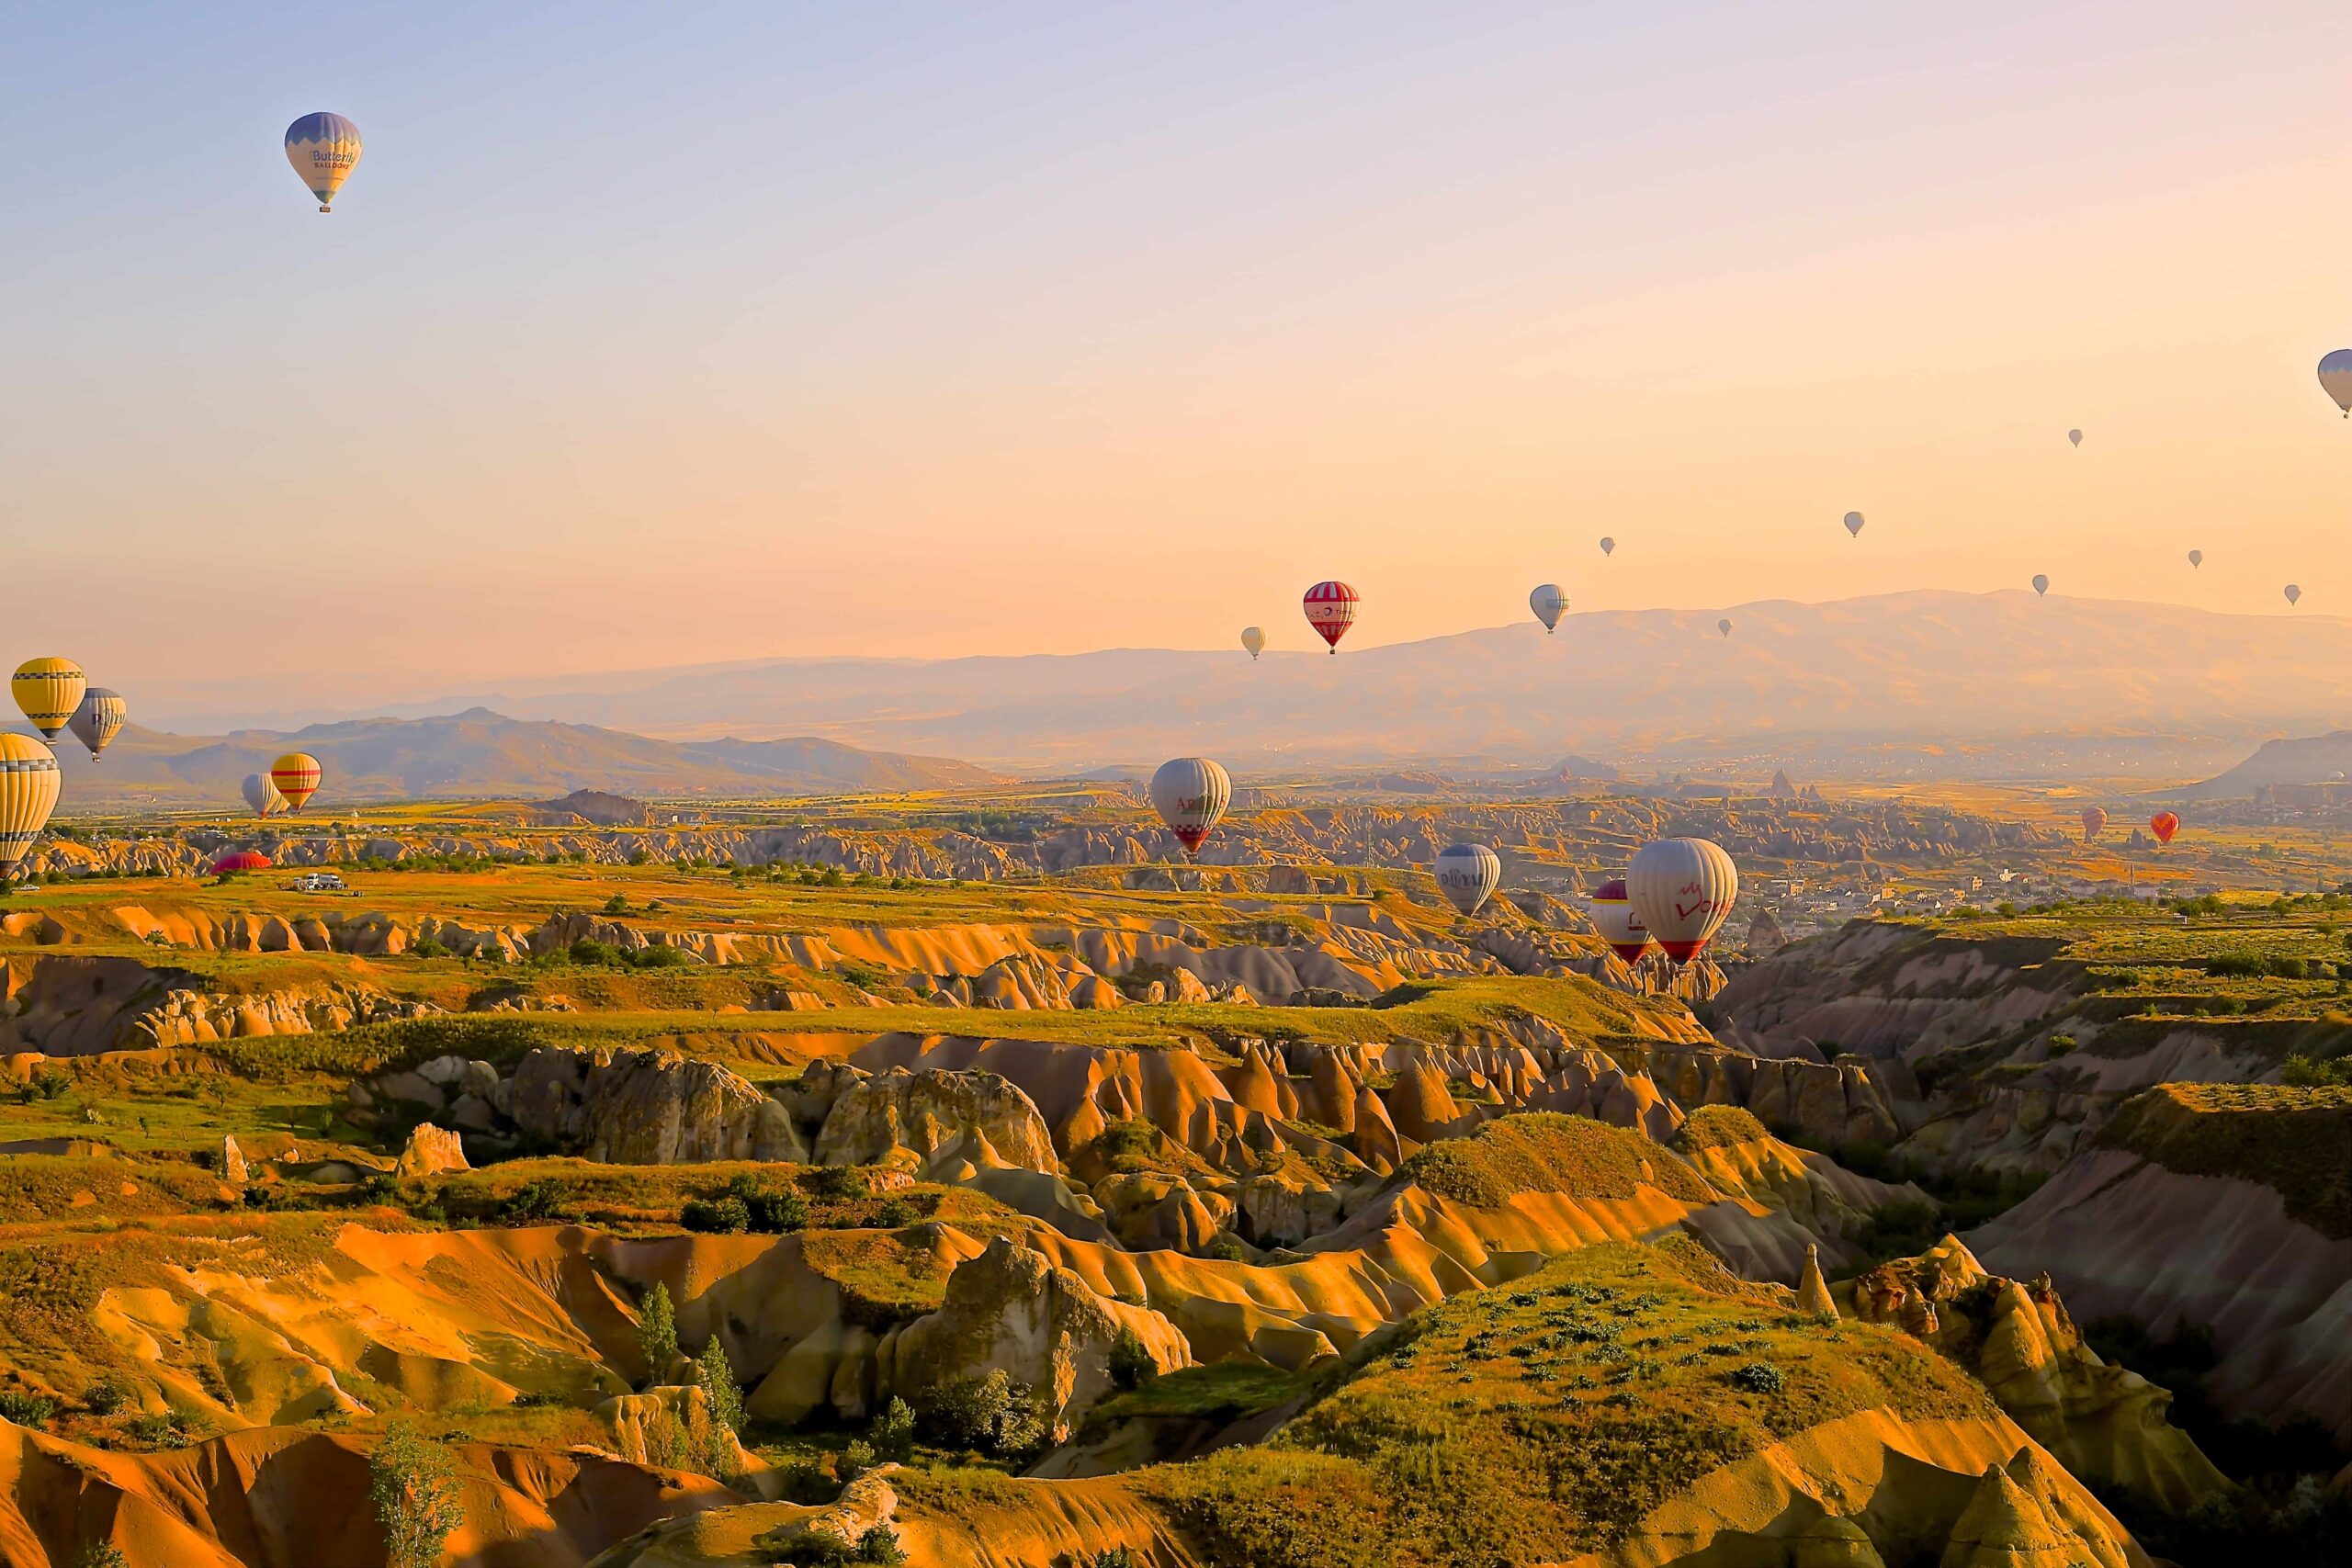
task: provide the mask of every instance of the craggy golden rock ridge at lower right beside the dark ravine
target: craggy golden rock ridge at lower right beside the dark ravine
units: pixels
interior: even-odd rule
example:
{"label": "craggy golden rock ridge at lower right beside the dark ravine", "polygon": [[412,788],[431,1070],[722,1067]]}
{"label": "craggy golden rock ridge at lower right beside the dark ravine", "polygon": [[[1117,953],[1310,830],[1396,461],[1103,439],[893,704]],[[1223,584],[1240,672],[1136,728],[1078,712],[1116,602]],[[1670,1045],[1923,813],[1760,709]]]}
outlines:
{"label": "craggy golden rock ridge at lower right beside the dark ravine", "polygon": [[2070,1472],[2114,1481],[2183,1512],[2230,1488],[2166,1420],[2173,1396],[2107,1366],[2074,1328],[2049,1276],[1999,1279],[1959,1237],[1835,1288],[1844,1316],[1889,1324],[1952,1356]]}

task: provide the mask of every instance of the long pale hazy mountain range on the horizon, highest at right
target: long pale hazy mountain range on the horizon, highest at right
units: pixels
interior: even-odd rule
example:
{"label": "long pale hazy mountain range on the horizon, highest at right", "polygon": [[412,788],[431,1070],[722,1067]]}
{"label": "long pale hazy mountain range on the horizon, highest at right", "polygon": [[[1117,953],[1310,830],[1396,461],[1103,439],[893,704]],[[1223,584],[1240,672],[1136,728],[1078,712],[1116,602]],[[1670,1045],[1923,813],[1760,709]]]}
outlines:
{"label": "long pale hazy mountain range on the horizon, highest at right", "polygon": [[[1378,607],[1371,607],[1378,616]],[[1731,635],[1717,621],[1731,618]],[[1369,623],[1367,623],[1369,625]],[[1729,611],[1571,614],[1322,654],[1110,649],[1025,658],[793,658],[609,677],[480,701],[534,719],[703,741],[849,745],[1077,773],[1207,752],[1284,762],[1536,766],[1583,752],[1778,755],[1823,773],[1853,748],[2063,750],[2082,766],[2218,766],[2352,717],[2352,621],[2176,604],[1900,592]],[[400,712],[423,712],[407,708]],[[442,705],[447,710],[447,705]],[[2129,745],[2084,752],[2086,741]],[[1816,764],[1818,752],[1818,764]],[[2150,764],[2147,759],[2154,759]],[[1769,773],[1769,766],[1764,766]]]}

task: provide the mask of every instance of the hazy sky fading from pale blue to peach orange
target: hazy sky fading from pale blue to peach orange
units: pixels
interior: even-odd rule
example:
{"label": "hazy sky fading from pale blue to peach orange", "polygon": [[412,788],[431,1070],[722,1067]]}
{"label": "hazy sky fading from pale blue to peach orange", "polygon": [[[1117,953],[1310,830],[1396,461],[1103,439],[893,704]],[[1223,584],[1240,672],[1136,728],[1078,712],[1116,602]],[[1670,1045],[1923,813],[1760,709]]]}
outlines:
{"label": "hazy sky fading from pale blue to peach orange", "polygon": [[9,642],[94,682],[2352,614],[2340,0],[0,26]]}

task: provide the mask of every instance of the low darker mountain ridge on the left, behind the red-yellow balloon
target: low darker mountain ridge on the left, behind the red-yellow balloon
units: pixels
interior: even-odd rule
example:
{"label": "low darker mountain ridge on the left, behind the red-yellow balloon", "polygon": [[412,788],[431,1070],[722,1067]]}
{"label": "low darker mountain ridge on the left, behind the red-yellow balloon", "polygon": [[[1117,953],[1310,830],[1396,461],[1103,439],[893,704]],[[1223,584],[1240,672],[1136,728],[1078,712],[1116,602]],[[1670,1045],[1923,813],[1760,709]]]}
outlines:
{"label": "low darker mountain ridge on the left, behind the red-yellow balloon", "polygon": [[946,757],[868,752],[840,741],[649,741],[590,724],[510,719],[487,708],[428,719],[348,719],[289,733],[172,736],[125,726],[89,752],[59,736],[64,809],[238,799],[247,773],[289,750],[327,773],[322,802],[619,795],[774,797],[830,790],[955,790],[1002,776]]}

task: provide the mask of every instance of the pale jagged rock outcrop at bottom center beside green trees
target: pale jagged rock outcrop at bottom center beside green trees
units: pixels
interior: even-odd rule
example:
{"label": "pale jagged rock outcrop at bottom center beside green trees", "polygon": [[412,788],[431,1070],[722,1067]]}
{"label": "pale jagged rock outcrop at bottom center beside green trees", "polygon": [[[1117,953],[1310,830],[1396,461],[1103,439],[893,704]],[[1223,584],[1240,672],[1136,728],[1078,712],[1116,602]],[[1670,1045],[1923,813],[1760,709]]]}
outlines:
{"label": "pale jagged rock outcrop at bottom center beside green trees", "polygon": [[1110,1352],[1122,1335],[1141,1340],[1160,1371],[1192,1363],[1183,1333],[1157,1312],[1108,1300],[1044,1253],[997,1237],[948,1276],[938,1312],[884,1347],[882,1378],[920,1396],[938,1382],[1004,1371],[1037,1392],[1061,1443],[1112,1389]]}

